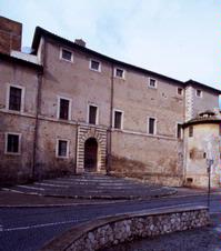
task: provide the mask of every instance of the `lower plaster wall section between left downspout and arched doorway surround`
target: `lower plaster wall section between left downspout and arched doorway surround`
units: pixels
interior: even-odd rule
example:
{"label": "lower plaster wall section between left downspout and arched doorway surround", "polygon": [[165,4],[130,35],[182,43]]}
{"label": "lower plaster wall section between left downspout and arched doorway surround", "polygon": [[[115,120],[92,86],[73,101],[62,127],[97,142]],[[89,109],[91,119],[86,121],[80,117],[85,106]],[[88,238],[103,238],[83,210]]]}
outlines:
{"label": "lower plaster wall section between left downspout and arched doorway surround", "polygon": [[[53,122],[40,119],[36,178],[52,178],[76,171],[76,126],[66,122]],[[68,158],[57,158],[57,140],[69,141]]]}

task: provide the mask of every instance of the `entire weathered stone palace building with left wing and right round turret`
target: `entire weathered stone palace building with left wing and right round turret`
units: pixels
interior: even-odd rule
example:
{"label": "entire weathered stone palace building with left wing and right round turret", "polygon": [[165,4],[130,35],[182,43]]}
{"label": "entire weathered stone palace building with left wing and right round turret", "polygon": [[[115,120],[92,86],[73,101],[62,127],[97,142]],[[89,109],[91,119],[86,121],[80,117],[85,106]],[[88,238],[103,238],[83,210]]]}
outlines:
{"label": "entire weathered stone palace building with left wing and right round turret", "polygon": [[0,182],[99,172],[220,184],[220,90],[121,62],[0,17]]}

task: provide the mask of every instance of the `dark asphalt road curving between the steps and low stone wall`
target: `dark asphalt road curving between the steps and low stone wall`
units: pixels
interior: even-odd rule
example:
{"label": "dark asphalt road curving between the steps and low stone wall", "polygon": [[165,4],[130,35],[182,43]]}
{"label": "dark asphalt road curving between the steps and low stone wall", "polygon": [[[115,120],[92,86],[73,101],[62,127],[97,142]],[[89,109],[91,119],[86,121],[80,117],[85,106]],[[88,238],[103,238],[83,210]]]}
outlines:
{"label": "dark asphalt road curving between the steps and low stone wall", "polygon": [[[0,209],[0,251],[34,251],[72,225],[98,217],[168,207],[207,205],[207,197],[173,197],[109,204]],[[221,213],[221,194],[211,195],[211,213]]]}

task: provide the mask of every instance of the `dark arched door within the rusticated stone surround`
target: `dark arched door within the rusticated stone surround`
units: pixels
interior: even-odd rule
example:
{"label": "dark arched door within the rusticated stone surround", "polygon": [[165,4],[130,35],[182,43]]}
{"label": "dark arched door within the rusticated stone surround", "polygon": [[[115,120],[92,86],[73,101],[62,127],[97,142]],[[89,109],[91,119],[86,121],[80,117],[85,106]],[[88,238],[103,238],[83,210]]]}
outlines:
{"label": "dark arched door within the rusticated stone surround", "polygon": [[84,143],[84,171],[94,172],[98,167],[98,142],[89,138]]}

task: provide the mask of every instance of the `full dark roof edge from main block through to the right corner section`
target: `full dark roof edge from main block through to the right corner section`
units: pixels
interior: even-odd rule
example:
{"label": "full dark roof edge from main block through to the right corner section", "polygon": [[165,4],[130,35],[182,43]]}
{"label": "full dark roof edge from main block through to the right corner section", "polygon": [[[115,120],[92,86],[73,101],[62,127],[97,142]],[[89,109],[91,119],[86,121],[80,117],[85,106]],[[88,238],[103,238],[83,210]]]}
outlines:
{"label": "full dark roof edge from main block through to the right corner section", "polygon": [[180,80],[177,80],[177,79],[173,79],[173,78],[170,78],[170,77],[167,77],[167,76],[163,76],[163,74],[160,74],[160,73],[157,73],[157,72],[153,72],[153,71],[150,71],[150,70],[147,70],[147,69],[133,66],[133,64],[129,64],[129,63],[123,62],[123,61],[119,61],[119,60],[110,58],[108,56],[101,54],[101,53],[99,53],[97,51],[93,51],[91,49],[88,49],[86,47],[81,47],[81,46],[77,44],[73,41],[67,40],[67,39],[64,39],[62,37],[59,37],[58,34],[54,34],[54,33],[52,33],[52,32],[50,32],[48,30],[44,30],[41,27],[37,27],[36,28],[34,36],[33,36],[32,49],[36,51],[36,53],[37,53],[37,50],[38,50],[41,37],[50,38],[50,39],[52,39],[52,40],[54,40],[54,41],[57,41],[59,43],[66,44],[66,46],[68,46],[70,48],[77,49],[77,50],[82,51],[82,52],[87,52],[87,53],[92,54],[94,57],[98,57],[100,59],[103,59],[103,60],[107,60],[109,62],[112,62],[112,63],[114,63],[114,64],[117,64],[119,67],[121,66],[123,68],[129,68],[129,69],[139,71],[139,72],[142,72],[144,74],[149,74],[151,77],[155,77],[155,78],[159,78],[159,79],[163,79],[163,80],[170,81],[172,83],[175,83],[175,84],[179,84],[179,86],[182,86],[182,87],[195,86],[198,88],[208,89],[208,90],[210,90],[210,91],[212,91],[214,93],[221,94],[221,90],[218,90],[218,89],[209,87],[207,84],[197,82],[194,80],[188,80],[187,82],[183,82],[183,81],[180,81]]}

